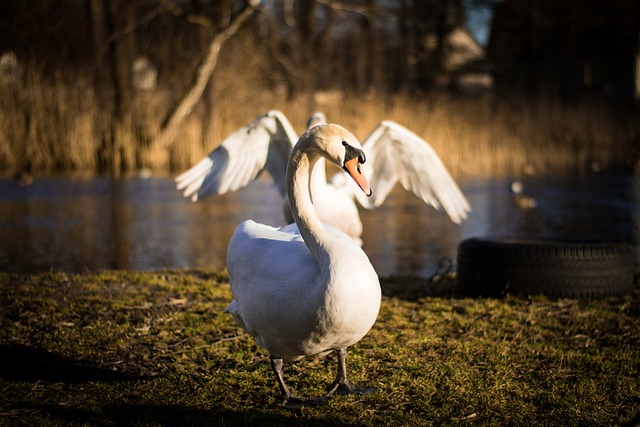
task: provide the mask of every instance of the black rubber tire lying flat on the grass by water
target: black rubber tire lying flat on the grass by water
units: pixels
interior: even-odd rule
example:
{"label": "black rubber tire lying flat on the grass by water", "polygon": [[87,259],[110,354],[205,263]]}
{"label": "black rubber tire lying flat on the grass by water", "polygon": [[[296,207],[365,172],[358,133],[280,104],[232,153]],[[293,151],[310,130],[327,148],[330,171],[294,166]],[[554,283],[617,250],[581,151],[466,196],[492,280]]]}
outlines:
{"label": "black rubber tire lying flat on the grass by water", "polygon": [[463,295],[598,298],[633,291],[631,246],[518,238],[470,238],[458,244]]}

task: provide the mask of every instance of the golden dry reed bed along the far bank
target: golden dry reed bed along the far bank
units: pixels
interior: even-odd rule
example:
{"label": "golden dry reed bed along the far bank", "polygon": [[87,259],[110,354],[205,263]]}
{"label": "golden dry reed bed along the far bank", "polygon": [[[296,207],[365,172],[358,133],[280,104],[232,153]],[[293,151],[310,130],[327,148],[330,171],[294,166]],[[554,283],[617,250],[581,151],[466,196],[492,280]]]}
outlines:
{"label": "golden dry reed bed along the far bank", "polygon": [[151,141],[178,89],[137,92],[129,111],[117,118],[82,76],[44,77],[32,66],[1,89],[0,170],[5,172],[176,172],[270,109],[282,110],[298,132],[313,111],[322,110],[360,138],[380,120],[397,121],[432,144],[457,177],[632,171],[640,141],[640,121],[632,111],[602,104],[339,90],[289,99],[221,71],[175,142],[161,147]]}

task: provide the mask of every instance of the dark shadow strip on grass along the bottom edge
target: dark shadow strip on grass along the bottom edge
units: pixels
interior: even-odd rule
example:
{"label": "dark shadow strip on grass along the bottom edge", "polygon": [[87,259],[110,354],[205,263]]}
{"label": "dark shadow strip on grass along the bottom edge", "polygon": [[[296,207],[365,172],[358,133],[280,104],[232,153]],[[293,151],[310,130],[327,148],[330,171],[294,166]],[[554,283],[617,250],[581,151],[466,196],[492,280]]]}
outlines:
{"label": "dark shadow strip on grass along the bottom edge", "polygon": [[[299,426],[300,413],[294,410],[278,409],[261,412],[260,409],[201,409],[183,405],[107,405],[91,411],[62,407],[58,405],[37,405],[31,402],[17,402],[11,405],[7,418],[46,419],[64,425],[92,426]],[[305,426],[348,426],[333,416],[319,416],[316,419],[304,417]]]}

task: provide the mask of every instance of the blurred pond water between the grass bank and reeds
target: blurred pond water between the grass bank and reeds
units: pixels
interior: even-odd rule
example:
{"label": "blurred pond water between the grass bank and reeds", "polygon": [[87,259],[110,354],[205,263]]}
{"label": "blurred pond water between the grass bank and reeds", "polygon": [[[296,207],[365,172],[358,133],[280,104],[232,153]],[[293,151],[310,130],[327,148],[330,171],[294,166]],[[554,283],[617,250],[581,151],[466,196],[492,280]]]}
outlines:
{"label": "blurred pond water between the grass bank and reeds", "polygon": [[[461,225],[400,186],[373,211],[361,210],[363,248],[381,276],[431,276],[455,262],[460,240],[508,235],[625,241],[640,227],[640,179],[625,176],[526,177],[523,208],[511,179],[460,182],[473,212]],[[529,199],[525,199],[529,200]],[[0,270],[221,268],[236,225],[282,225],[282,200],[268,177],[197,203],[171,177],[0,179]]]}

